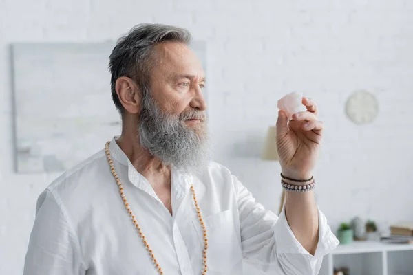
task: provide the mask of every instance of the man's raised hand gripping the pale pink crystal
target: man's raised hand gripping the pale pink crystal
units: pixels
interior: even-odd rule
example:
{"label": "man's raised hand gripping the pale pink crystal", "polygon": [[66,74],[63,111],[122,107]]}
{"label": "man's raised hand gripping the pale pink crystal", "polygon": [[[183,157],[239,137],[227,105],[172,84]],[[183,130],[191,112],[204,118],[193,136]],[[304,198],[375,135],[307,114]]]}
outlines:
{"label": "man's raised hand gripping the pale pink crystal", "polygon": [[277,149],[282,173],[293,179],[309,179],[321,146],[323,122],[317,120],[317,106],[302,98],[307,111],[295,113],[288,122],[284,111],[278,112]]}

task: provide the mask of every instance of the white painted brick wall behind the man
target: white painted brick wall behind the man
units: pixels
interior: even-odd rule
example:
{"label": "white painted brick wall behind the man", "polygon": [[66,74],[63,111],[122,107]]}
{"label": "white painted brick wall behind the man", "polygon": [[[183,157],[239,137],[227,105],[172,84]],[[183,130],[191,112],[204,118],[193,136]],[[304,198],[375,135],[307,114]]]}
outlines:
{"label": "white painted brick wall behind the man", "polygon": [[[412,219],[412,1],[116,2],[0,0],[0,274],[21,274],[36,197],[57,176],[13,173],[10,43],[116,39],[142,22],[209,42],[216,159],[264,206],[277,210],[281,192],[277,164],[259,159],[266,127],[277,99],[297,90],[317,100],[326,124],[315,175],[332,227],[356,214]],[[379,98],[374,124],[344,115],[355,89]]]}

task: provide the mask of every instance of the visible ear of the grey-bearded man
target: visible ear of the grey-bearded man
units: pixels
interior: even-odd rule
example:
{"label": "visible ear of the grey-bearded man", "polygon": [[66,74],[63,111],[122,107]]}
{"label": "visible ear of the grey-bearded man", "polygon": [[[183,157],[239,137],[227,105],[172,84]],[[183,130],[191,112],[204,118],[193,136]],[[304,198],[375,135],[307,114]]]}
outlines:
{"label": "visible ear of the grey-bearded man", "polygon": [[138,85],[134,83],[134,80],[131,80],[131,78],[127,76],[121,76],[116,80],[115,90],[120,103],[122,103],[123,108],[125,108],[128,113],[139,113],[141,93]]}

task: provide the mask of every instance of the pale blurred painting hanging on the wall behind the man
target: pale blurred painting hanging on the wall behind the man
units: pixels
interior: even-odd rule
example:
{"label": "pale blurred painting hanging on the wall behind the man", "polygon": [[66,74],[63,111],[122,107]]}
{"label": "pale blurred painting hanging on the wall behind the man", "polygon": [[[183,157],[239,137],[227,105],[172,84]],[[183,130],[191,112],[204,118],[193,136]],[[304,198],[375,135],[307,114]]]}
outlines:
{"label": "pale blurred painting hanging on the wall behind the man", "polygon": [[[67,170],[120,134],[107,65],[114,41],[12,45],[18,173]],[[205,66],[205,44],[193,50]]]}

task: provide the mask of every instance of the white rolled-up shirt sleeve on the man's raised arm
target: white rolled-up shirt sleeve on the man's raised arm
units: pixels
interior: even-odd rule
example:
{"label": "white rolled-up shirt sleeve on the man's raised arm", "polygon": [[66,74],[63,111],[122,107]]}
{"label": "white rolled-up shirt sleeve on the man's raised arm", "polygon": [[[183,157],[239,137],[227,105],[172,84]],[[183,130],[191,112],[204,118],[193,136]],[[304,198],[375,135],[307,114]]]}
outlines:
{"label": "white rolled-up shirt sleeve on the man's raised arm", "polygon": [[324,214],[319,212],[319,242],[314,256],[297,241],[288,225],[284,208],[276,214],[255,202],[245,186],[233,177],[238,192],[240,235],[244,261],[268,274],[316,275],[323,256],[337,247]]}

